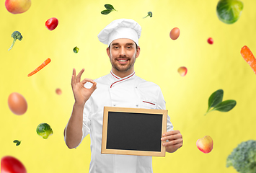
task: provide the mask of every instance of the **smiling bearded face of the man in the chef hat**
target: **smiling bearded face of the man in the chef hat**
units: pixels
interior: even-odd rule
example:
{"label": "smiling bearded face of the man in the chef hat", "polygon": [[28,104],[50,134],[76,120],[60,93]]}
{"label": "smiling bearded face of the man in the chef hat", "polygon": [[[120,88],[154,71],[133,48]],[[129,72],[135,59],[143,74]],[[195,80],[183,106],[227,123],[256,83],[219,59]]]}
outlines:
{"label": "smiling bearded face of the man in the chef hat", "polygon": [[114,40],[110,44],[110,48],[107,48],[112,68],[118,72],[133,72],[139,52],[140,48],[136,49],[136,43],[127,38]]}

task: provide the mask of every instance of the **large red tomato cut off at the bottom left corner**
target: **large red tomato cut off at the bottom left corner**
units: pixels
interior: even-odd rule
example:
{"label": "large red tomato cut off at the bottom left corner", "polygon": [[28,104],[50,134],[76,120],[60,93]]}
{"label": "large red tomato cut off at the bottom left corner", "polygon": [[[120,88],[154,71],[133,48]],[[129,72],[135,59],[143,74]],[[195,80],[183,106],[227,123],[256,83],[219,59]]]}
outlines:
{"label": "large red tomato cut off at the bottom left corner", "polygon": [[4,156],[1,158],[1,172],[3,173],[27,173],[22,162],[13,156]]}

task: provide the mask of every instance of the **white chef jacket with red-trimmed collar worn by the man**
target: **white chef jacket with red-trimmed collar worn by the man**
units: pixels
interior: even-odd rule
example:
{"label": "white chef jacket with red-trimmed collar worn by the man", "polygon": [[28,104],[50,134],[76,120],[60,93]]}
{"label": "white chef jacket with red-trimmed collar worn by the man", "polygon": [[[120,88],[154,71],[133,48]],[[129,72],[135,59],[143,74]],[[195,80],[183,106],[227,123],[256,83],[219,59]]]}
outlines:
{"label": "white chef jacket with red-trimmed collar worn by the man", "polygon": [[[90,134],[92,154],[89,173],[152,173],[151,156],[101,154],[102,120],[105,106],[165,110],[160,87],[141,79],[135,72],[120,78],[110,71],[110,74],[94,81],[97,82],[97,89],[84,105],[81,138],[82,141]],[[90,88],[92,84],[87,83],[84,86]],[[173,130],[169,119],[167,116],[167,131]]]}

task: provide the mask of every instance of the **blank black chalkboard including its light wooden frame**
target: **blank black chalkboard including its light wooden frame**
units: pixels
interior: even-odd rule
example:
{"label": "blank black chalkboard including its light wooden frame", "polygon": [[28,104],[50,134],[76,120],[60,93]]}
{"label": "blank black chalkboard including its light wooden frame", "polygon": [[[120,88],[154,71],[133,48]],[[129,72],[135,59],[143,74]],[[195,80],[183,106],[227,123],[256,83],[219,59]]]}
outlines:
{"label": "blank black chalkboard including its light wooden frame", "polygon": [[165,156],[167,110],[104,107],[102,154]]}

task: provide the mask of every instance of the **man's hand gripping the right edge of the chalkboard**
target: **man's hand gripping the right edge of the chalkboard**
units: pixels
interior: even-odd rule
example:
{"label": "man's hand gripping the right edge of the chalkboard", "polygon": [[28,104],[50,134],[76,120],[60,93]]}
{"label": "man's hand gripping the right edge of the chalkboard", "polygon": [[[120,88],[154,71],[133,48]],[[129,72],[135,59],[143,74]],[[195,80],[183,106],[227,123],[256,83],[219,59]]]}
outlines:
{"label": "man's hand gripping the right edge of the chalkboard", "polygon": [[[171,130],[163,134],[161,138],[163,142],[163,146],[165,146],[166,151],[169,153],[173,153],[177,151],[178,148],[182,147],[183,139],[179,130]],[[166,141],[169,142],[166,142]]]}

